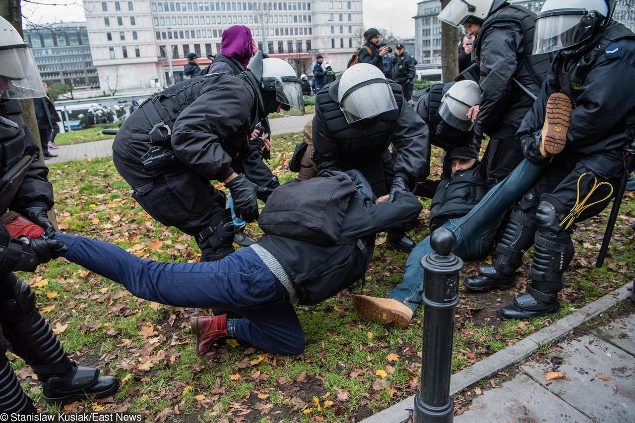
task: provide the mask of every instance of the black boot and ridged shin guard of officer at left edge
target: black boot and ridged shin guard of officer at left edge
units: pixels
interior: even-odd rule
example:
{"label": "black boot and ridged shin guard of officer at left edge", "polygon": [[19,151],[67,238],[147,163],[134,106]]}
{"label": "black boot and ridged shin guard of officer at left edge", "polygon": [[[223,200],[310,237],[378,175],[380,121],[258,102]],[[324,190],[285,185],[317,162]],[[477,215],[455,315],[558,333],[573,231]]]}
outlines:
{"label": "black boot and ridged shin guard of officer at left edge", "polygon": [[100,376],[99,370],[77,367],[69,360],[53,330],[35,308],[35,294],[27,283],[15,278],[13,292],[14,298],[6,301],[4,307],[3,320],[8,322],[4,334],[11,343],[11,351],[24,358],[36,372],[44,401],[64,404],[93,394],[104,398],[117,391],[116,377]]}

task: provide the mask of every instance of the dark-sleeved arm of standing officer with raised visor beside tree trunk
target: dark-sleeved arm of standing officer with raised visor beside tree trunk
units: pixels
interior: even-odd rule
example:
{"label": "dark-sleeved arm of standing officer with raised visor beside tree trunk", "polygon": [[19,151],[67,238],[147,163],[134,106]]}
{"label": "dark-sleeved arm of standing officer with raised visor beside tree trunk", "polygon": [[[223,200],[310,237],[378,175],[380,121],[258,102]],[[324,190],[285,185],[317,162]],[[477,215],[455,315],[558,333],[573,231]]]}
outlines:
{"label": "dark-sleeved arm of standing officer with raised visor beside tree trunk", "polygon": [[512,76],[522,51],[523,35],[512,27],[495,27],[483,39],[479,63],[479,87],[483,96],[475,124],[478,135],[499,124],[500,117],[507,112]]}

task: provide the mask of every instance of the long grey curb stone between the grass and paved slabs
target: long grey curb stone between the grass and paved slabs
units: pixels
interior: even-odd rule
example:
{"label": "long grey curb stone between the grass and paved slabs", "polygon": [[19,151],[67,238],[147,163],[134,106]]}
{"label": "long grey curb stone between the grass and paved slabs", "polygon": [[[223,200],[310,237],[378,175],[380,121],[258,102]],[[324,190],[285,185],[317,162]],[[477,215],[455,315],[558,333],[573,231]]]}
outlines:
{"label": "long grey curb stone between the grass and paved slabs", "polygon": [[[591,304],[587,304],[572,314],[516,342],[516,344],[453,374],[450,381],[450,395],[460,392],[464,387],[471,386],[481,379],[490,377],[505,367],[518,363],[534,353],[540,344],[546,344],[568,334],[575,327],[598,316],[600,313],[615,306],[615,304],[624,301],[631,296],[632,285],[632,282],[628,282],[621,288],[609,292]],[[414,399],[414,395],[409,396],[392,407],[362,420],[361,423],[404,423],[410,419],[414,407]]]}

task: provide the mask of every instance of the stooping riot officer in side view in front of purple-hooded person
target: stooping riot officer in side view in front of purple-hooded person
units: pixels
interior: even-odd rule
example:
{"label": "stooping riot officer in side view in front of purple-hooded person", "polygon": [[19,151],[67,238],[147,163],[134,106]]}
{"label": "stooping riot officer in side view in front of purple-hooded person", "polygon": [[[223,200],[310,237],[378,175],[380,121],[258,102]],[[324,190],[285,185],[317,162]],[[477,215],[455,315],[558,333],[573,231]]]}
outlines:
{"label": "stooping riot officer in side view in front of purple-hooded person", "polygon": [[237,216],[255,221],[257,197],[278,183],[248,141],[257,122],[291,107],[304,114],[300,79],[258,52],[242,74],[196,77],[145,101],[117,133],[113,161],[150,216],[196,237],[201,261],[222,259],[234,251],[234,225],[210,180],[229,188]]}

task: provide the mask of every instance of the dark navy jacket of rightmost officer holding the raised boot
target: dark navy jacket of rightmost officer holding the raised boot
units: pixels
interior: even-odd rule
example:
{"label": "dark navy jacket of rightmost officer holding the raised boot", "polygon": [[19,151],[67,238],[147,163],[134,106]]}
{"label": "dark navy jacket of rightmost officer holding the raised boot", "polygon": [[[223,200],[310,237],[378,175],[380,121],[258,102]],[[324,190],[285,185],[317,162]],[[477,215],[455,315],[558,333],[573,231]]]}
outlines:
{"label": "dark navy jacket of rightmost officer holding the raised boot", "polygon": [[[572,98],[573,110],[561,154],[584,157],[617,152],[621,156],[625,142],[635,135],[635,35],[613,22],[601,36],[582,51],[556,55],[538,99],[518,130],[520,140],[542,128],[547,99],[562,92]],[[601,46],[601,53],[585,66],[596,46]],[[599,174],[614,176],[606,174],[607,166],[596,167]]]}

